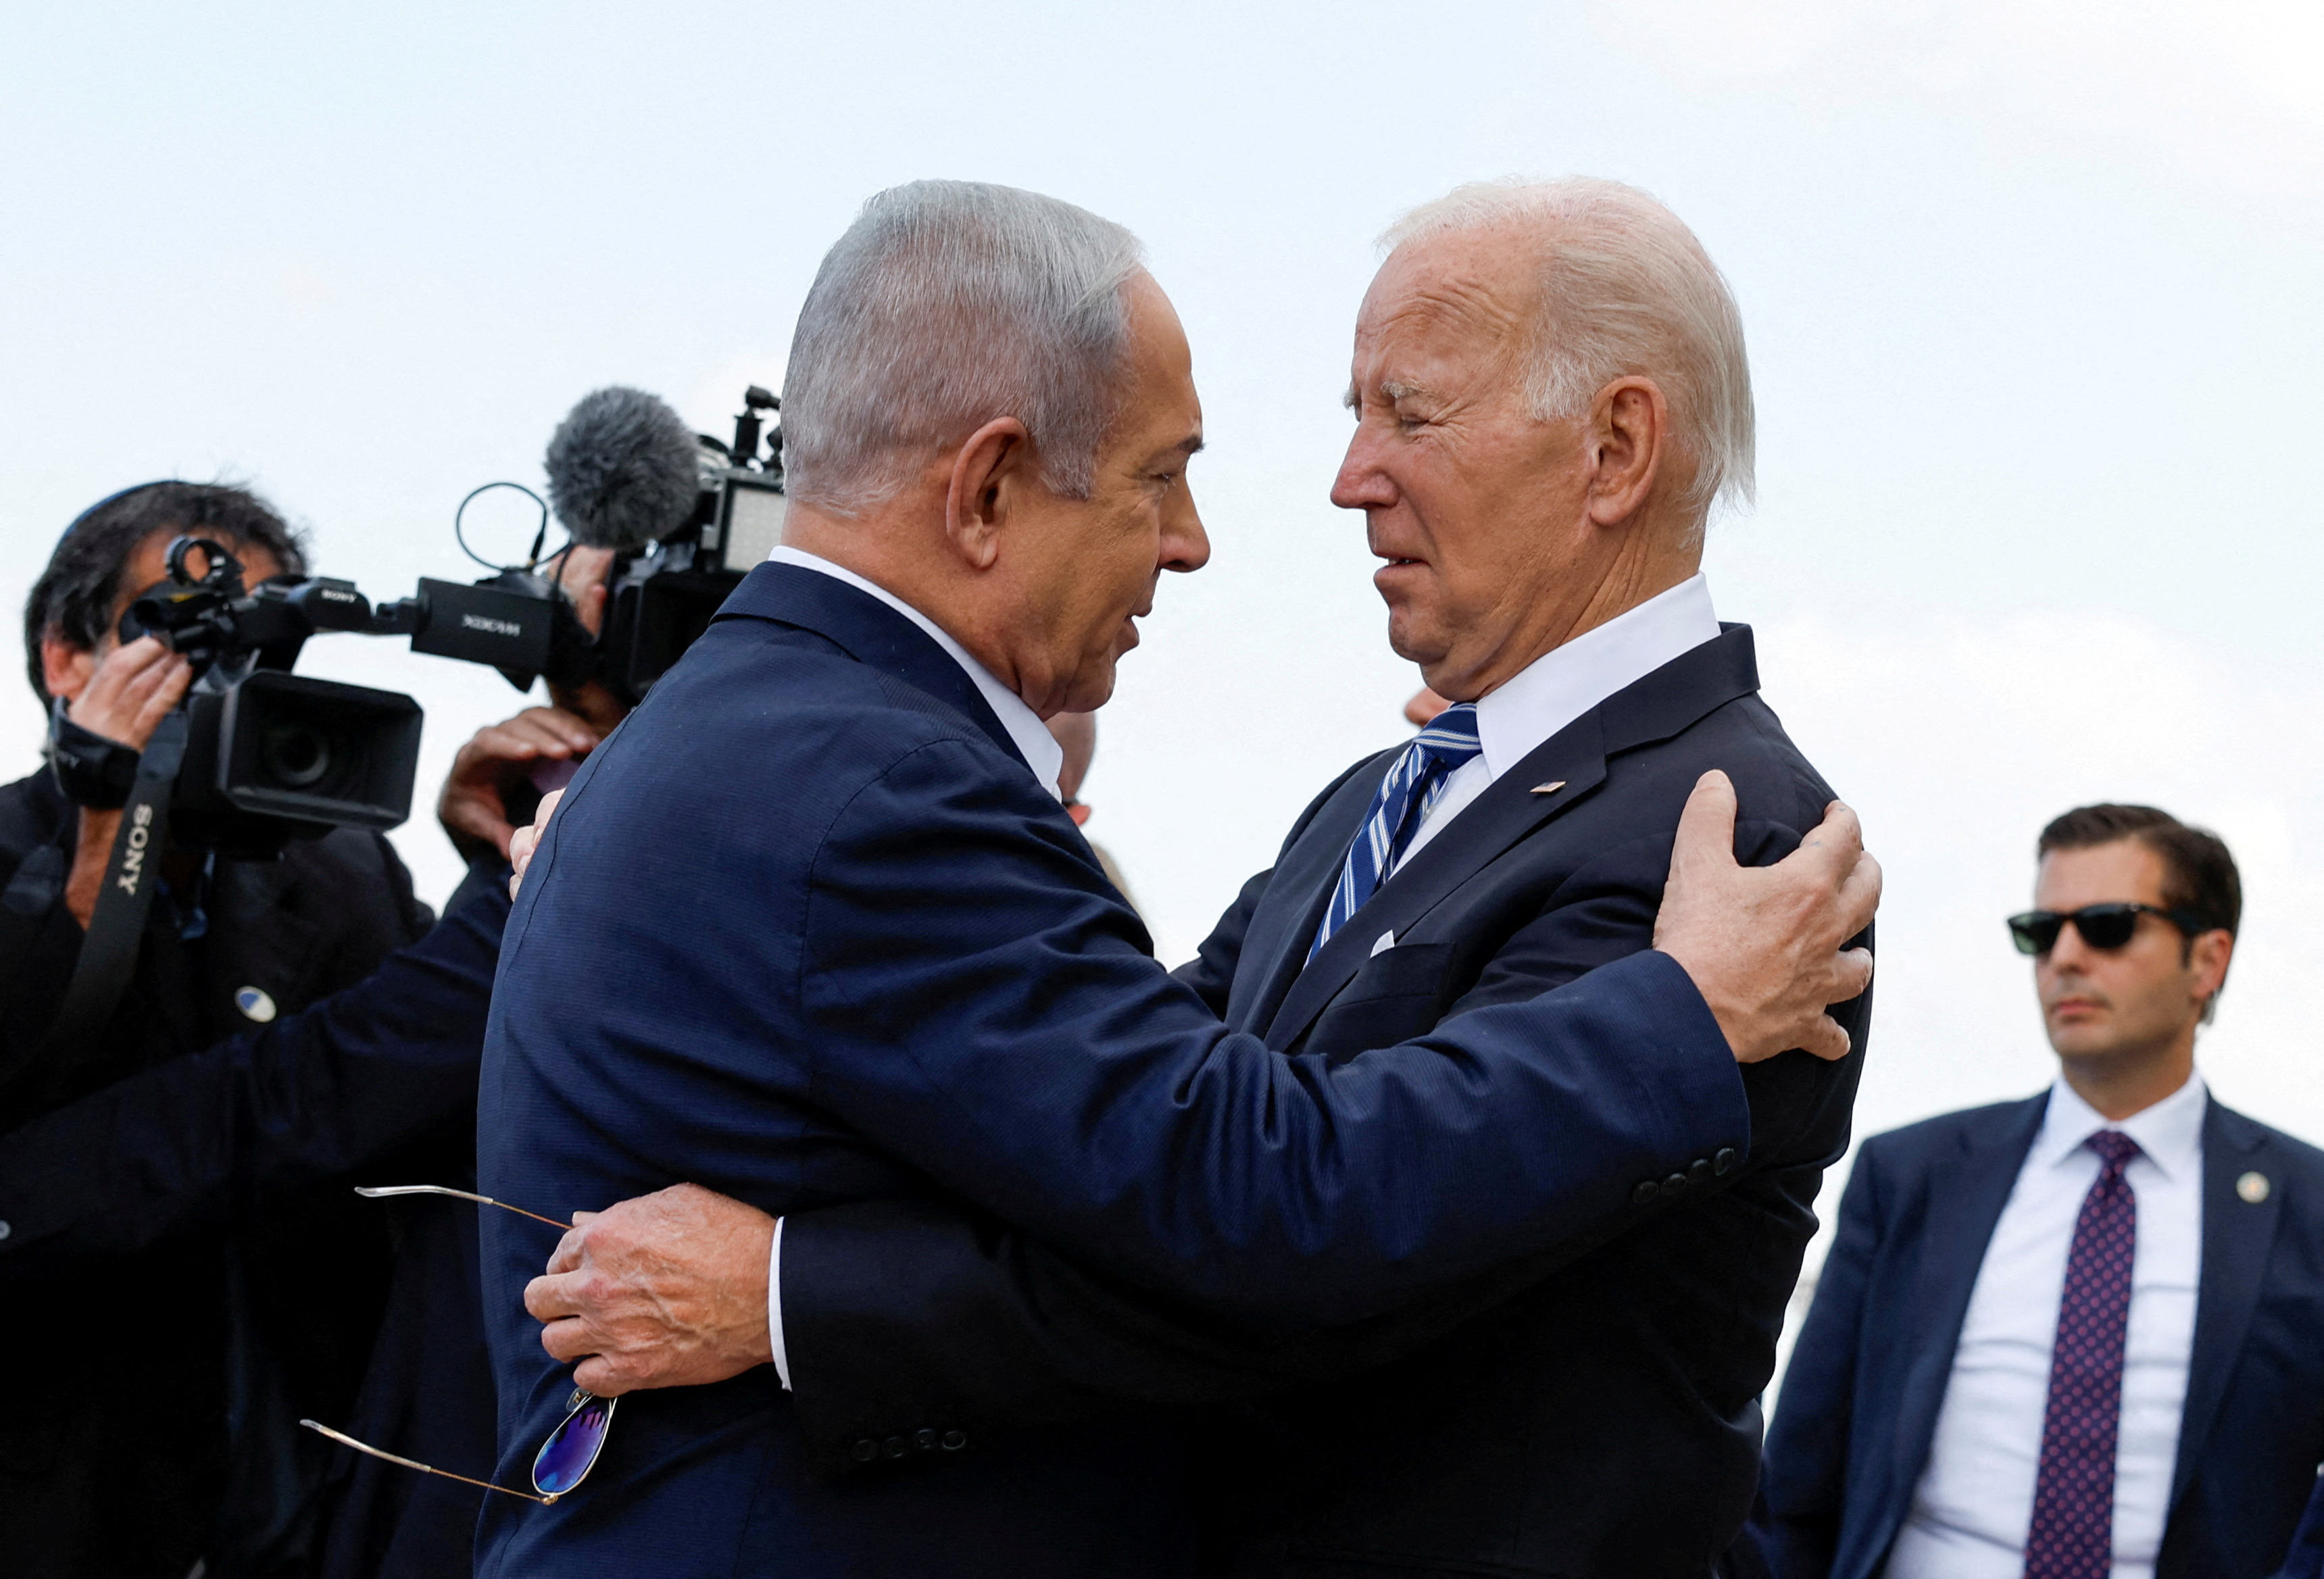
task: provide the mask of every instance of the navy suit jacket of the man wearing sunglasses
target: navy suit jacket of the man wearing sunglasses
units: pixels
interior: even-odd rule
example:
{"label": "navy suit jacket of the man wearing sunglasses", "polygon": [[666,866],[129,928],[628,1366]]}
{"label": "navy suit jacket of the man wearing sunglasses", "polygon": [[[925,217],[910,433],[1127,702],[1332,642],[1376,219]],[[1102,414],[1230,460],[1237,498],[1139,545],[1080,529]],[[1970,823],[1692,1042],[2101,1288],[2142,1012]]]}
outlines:
{"label": "navy suit jacket of the man wearing sunglasses", "polygon": [[[1868,1579],[1913,1505],[1968,1293],[2047,1096],[1873,1135],[1766,1449],[1769,1560]],[[2259,1173],[2266,1201],[2236,1194]],[[2324,1458],[2324,1152],[2210,1103],[2203,1275],[2157,1579],[2275,1572]]]}

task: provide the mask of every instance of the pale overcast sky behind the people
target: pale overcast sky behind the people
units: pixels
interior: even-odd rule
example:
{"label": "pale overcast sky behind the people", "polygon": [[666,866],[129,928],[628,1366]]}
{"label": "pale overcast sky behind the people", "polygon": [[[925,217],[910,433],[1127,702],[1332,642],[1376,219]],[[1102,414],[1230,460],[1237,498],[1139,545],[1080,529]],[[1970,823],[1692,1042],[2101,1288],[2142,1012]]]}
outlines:
{"label": "pale overcast sky behind the people", "polygon": [[[1181,959],[1415,683],[1325,497],[1373,237],[1466,179],[1618,176],[1741,297],[1759,504],[1713,597],[1887,864],[1859,1131],[2050,1077],[2001,917],[2043,820],[2143,799],[2245,871],[2215,1089],[2324,1140],[2319,35],[2222,0],[40,7],[0,56],[0,599],[172,474],[253,483],[374,597],[474,574],[453,504],[539,483],[586,390],[718,432],[781,385],[869,193],[1055,193],[1146,239],[1208,416],[1215,557],[1085,790]],[[302,669],[421,697],[423,799],[521,704],[383,641]],[[0,769],[37,731],[0,687]],[[442,899],[432,817],[397,845]]]}

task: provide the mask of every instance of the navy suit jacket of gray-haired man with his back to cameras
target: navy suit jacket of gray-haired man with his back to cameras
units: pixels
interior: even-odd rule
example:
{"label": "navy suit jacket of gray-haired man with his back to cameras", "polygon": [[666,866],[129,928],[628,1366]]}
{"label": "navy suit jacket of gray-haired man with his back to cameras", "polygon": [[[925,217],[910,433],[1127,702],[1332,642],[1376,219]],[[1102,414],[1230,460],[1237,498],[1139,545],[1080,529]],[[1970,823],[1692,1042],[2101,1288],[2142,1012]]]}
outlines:
{"label": "navy suit jacket of gray-haired man with his back to cameras", "polygon": [[[502,952],[479,1177],[541,1212],[676,1180],[772,1212],[951,1191],[1218,1310],[1362,1319],[1618,1231],[1652,1210],[1643,1180],[1748,1145],[1734,1057],[1671,959],[1511,996],[1362,1057],[1220,1024],[960,666],[878,599],[762,564],[548,829]],[[483,1235],[521,1484],[572,1386],[518,1307],[553,1235]],[[897,1451],[941,1475],[820,1486],[765,1368],[625,1398],[581,1491],[486,1509],[479,1572],[1183,1560],[1160,1426],[990,1451],[916,1426]]]}

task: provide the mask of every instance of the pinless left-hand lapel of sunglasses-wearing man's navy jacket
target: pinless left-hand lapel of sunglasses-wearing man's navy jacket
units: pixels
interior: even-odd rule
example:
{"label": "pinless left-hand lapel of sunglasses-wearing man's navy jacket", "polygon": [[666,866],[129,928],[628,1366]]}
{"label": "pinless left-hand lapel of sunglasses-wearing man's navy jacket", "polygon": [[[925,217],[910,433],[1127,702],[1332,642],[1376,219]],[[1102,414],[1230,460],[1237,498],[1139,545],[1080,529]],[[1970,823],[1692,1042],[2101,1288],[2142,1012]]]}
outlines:
{"label": "pinless left-hand lapel of sunglasses-wearing man's navy jacket", "polygon": [[[1903,1386],[1896,1398],[1896,1486],[1920,1481],[1936,1435],[1936,1412],[1952,1379],[1952,1354],[1961,1344],[1968,1296],[1994,1242],[2001,1207],[2008,1205],[2027,1152],[2040,1133],[2050,1094],[2010,1103],[1980,1129],[1961,1129],[1957,1149],[1929,1170],[1929,1217],[1922,1233],[1920,1282],[1903,1314]],[[1899,1519],[1903,1509],[1899,1509]]]}

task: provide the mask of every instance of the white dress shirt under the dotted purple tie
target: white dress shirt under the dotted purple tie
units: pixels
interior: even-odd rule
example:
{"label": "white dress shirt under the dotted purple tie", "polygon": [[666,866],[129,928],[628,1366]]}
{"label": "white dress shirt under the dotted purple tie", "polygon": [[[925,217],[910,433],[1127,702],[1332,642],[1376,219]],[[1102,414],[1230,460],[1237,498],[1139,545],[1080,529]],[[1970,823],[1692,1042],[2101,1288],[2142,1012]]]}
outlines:
{"label": "white dress shirt under the dotted purple tie", "polygon": [[2154,1579],[2203,1272],[2208,1101],[2194,1075],[2145,1112],[2108,1124],[2064,1080],[2050,1087],[2040,1135],[1968,1296],[1929,1468],[1889,1551],[1889,1579],[2024,1579],[2066,1252],[2099,1180],[2099,1154],[2082,1142],[2101,1129],[2119,1129],[2140,1152],[2122,1173],[2138,1201],[2138,1245],[2115,1440],[2113,1579]]}

